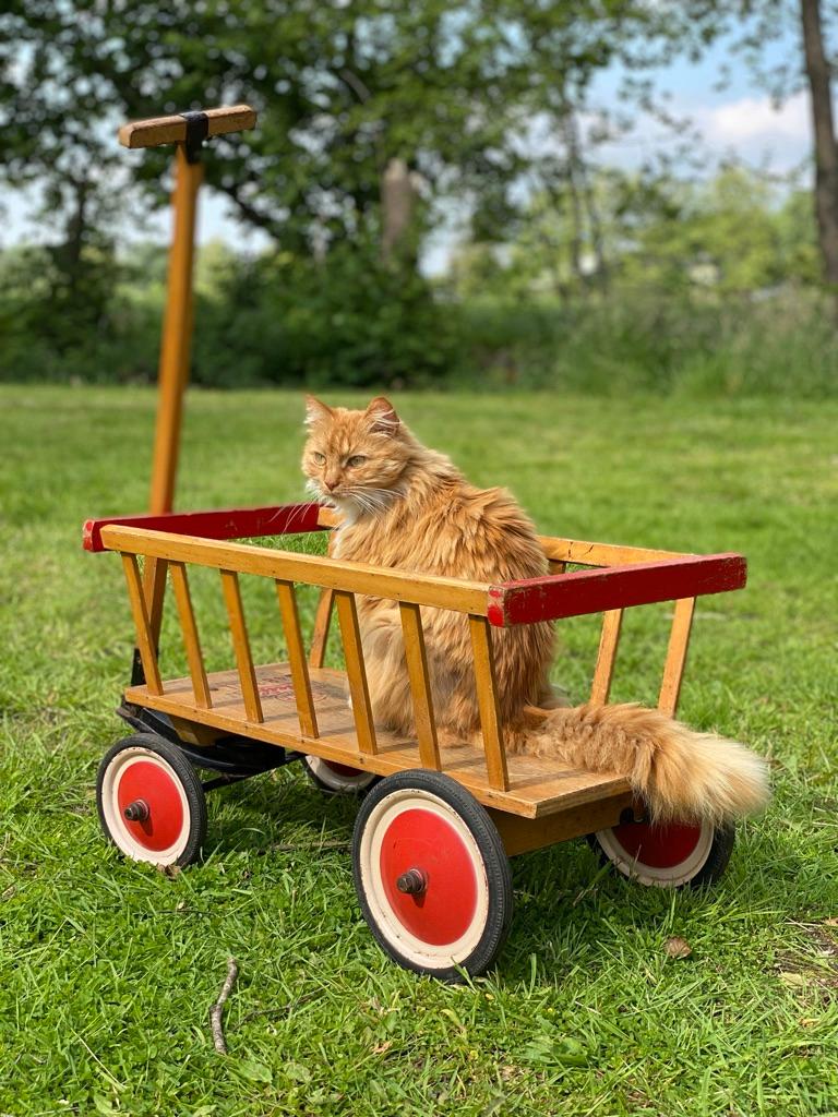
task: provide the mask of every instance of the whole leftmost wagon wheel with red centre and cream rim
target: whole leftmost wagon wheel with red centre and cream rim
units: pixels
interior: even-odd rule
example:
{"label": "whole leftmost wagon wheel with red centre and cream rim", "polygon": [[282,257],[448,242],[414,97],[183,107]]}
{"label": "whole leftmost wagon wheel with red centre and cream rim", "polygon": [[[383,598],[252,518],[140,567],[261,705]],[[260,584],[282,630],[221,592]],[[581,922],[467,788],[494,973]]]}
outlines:
{"label": "whole leftmost wagon wheel with red centre and cream rim", "polygon": [[106,837],[126,857],[190,865],[207,836],[207,801],[185,756],[152,733],[125,737],[99,764],[96,805]]}

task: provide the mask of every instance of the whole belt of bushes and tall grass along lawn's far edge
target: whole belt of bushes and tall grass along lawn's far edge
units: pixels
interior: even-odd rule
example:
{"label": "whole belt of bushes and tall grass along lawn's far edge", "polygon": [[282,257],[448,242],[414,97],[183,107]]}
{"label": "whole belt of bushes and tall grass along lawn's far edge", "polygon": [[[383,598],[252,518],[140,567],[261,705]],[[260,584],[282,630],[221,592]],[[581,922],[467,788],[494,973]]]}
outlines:
{"label": "whole belt of bushes and tall grass along lawn's far edge", "polygon": [[[194,383],[476,383],[613,394],[838,391],[807,197],[730,169],[686,187],[617,173],[593,184],[603,270],[574,268],[569,203],[539,195],[502,250],[467,245],[429,284],[375,238],[317,257],[198,254]],[[580,251],[593,258],[590,230]],[[48,249],[0,254],[0,379],[151,381],[165,252],[84,248],[75,311]],[[78,289],[76,288],[78,295]]]}

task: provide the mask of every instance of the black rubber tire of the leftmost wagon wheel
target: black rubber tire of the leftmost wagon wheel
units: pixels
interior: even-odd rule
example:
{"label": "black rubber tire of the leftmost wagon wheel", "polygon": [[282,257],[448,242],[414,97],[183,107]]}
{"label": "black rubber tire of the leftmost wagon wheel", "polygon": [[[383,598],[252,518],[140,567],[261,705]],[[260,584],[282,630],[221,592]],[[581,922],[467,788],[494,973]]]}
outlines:
{"label": "black rubber tire of the leftmost wagon wheel", "polygon": [[[142,751],[137,755],[145,753],[159,757],[169,770],[169,774],[177,780],[183,790],[188,811],[188,837],[177,857],[161,860],[155,856],[153,850],[147,851],[147,857],[137,856],[136,850],[130,848],[130,843],[126,842],[124,834],[113,832],[105,803],[108,791],[107,785],[114,766],[118,764],[120,757],[128,750]],[[102,757],[96,776],[96,809],[98,811],[99,823],[107,840],[116,846],[125,857],[132,860],[147,861],[152,865],[175,865],[183,867],[191,865],[201,857],[207,840],[207,796],[201,786],[200,777],[177,745],[170,744],[170,742],[154,733],[133,734],[130,737],[117,741],[115,745],[108,748]]]}

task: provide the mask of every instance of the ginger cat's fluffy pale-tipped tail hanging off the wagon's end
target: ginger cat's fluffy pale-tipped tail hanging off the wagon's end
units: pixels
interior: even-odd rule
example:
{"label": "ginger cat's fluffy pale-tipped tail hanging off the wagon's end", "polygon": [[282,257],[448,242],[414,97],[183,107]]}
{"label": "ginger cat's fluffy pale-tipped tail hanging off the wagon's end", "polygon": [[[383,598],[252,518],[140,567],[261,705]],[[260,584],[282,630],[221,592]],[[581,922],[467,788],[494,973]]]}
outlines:
{"label": "ginger cat's fluffy pale-tipped tail hanging off the wagon's end", "polygon": [[517,750],[554,756],[588,772],[617,772],[651,818],[724,822],[768,802],[765,762],[735,741],[696,733],[657,709],[637,705],[554,710],[516,735]]}

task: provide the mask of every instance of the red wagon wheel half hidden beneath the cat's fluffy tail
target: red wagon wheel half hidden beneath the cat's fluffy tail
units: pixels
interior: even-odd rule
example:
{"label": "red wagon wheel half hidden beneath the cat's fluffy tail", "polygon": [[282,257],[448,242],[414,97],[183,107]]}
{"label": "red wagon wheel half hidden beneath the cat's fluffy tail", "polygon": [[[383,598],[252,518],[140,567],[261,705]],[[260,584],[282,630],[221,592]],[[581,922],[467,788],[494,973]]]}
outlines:
{"label": "red wagon wheel half hidden beneath the cat's fluffy tail", "polygon": [[651,888],[712,884],[727,868],[734,839],[732,825],[712,822],[623,822],[589,836],[603,862]]}

